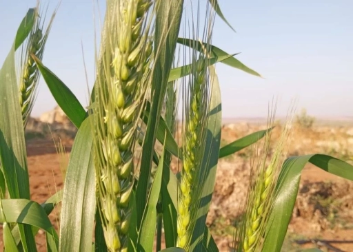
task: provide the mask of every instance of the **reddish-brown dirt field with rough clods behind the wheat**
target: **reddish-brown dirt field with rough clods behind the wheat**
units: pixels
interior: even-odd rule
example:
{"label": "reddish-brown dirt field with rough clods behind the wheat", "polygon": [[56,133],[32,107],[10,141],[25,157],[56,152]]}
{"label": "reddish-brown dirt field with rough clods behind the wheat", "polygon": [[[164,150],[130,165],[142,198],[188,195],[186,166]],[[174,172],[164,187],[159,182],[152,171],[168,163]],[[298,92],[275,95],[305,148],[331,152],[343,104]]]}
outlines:
{"label": "reddish-brown dirt field with rough clods behind the wheat", "polygon": [[[222,145],[259,129],[265,127],[247,123],[226,125],[222,132]],[[280,127],[276,127],[274,130],[274,139],[279,135],[279,129]],[[65,140],[63,144],[69,153],[72,140]],[[290,156],[322,153],[351,162],[353,127],[299,127],[294,129],[294,139],[290,146]],[[31,198],[41,203],[55,191],[62,189],[61,167],[67,160],[57,154],[53,140],[29,140],[27,149]],[[243,204],[248,186],[250,158],[251,149],[244,149],[219,162],[208,225],[221,251],[230,249],[232,222]],[[55,227],[58,226],[58,216],[59,207],[50,215]],[[2,237],[2,231],[0,235]],[[39,251],[46,251],[43,246],[45,235],[42,231],[36,239]],[[2,248],[2,239],[0,247]],[[307,165],[303,171],[301,189],[283,251],[301,251],[307,247],[319,247],[323,251],[353,251],[353,182],[327,174],[313,165]]]}

